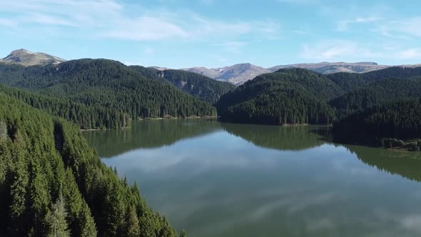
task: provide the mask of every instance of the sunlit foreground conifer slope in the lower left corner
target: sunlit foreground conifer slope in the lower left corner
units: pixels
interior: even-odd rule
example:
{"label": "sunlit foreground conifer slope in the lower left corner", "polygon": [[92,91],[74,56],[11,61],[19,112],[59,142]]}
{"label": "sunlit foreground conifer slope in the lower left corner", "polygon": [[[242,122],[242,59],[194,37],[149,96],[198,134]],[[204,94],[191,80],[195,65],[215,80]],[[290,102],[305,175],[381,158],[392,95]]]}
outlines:
{"label": "sunlit foreground conifer slope in the lower left corner", "polygon": [[0,236],[177,236],[76,126],[0,93]]}

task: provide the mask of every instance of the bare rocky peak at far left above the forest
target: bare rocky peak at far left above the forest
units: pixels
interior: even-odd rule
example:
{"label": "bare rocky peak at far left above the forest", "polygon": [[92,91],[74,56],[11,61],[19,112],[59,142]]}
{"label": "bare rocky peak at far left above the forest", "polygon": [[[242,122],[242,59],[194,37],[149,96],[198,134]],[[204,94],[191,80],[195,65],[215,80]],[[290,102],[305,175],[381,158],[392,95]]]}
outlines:
{"label": "bare rocky peak at far left above the forest", "polygon": [[26,49],[12,51],[6,58],[0,59],[0,62],[9,64],[21,64],[24,66],[60,64],[66,60],[44,53],[33,53]]}

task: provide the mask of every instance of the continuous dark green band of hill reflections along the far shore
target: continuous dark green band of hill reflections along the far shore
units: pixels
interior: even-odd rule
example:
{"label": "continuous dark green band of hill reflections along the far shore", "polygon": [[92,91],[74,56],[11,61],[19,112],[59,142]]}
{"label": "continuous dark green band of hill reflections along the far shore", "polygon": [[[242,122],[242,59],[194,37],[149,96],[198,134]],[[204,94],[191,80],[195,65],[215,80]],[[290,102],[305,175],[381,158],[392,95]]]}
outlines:
{"label": "continuous dark green band of hill reflections along the far shore", "polygon": [[83,134],[101,157],[111,158],[138,148],[170,146],[185,138],[204,136],[222,129],[255,146],[280,151],[302,151],[325,143],[344,146],[368,166],[421,181],[421,153],[333,143],[328,126],[264,126],[188,119],[135,121],[130,129],[88,131]]}

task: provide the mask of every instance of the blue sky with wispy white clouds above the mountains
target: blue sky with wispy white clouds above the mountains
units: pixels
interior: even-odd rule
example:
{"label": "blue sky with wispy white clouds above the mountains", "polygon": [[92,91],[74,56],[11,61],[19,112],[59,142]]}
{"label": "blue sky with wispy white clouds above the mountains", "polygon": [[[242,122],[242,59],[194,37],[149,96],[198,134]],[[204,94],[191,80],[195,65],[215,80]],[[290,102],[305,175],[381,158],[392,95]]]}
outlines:
{"label": "blue sky with wispy white clouds above the mountains", "polygon": [[421,63],[421,1],[0,0],[14,49],[128,65]]}

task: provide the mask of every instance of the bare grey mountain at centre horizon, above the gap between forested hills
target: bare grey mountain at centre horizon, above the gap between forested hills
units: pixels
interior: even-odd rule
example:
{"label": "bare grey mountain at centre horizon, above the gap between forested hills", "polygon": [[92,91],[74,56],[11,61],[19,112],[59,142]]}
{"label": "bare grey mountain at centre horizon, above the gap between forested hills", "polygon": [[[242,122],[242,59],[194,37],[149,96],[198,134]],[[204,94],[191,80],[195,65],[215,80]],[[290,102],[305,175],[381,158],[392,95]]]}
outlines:
{"label": "bare grey mountain at centre horizon, above the gap between forested hills", "polygon": [[207,69],[205,67],[196,67],[191,69],[181,69],[194,72],[203,76],[208,76],[218,81],[228,81],[232,84],[243,84],[261,74],[267,74],[272,71],[263,69],[263,67],[253,64],[235,64],[218,69]]}

